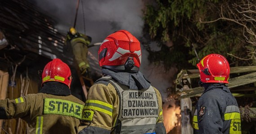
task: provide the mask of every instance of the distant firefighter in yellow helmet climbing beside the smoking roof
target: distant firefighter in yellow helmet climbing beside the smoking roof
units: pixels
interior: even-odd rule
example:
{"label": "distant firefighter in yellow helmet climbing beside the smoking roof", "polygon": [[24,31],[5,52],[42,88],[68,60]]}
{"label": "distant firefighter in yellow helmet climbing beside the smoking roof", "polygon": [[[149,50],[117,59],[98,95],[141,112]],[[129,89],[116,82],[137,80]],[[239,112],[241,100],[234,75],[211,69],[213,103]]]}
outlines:
{"label": "distant firefighter in yellow helmet climbing beside the smoking roof", "polygon": [[87,59],[88,45],[91,43],[92,38],[84,34],[80,34],[74,27],[69,29],[66,35],[65,44],[71,44],[76,63],[79,66],[81,75],[88,77],[90,72],[90,65]]}

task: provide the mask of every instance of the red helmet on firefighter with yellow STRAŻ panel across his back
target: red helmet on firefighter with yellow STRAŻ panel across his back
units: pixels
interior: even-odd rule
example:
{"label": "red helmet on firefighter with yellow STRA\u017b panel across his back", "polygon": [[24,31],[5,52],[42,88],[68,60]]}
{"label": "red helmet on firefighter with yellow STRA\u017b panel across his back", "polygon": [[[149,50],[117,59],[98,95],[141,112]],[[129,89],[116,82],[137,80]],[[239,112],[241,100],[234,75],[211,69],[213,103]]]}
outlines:
{"label": "red helmet on firefighter with yellow STRA\u017b panel across his back", "polygon": [[66,63],[61,59],[53,59],[47,63],[42,73],[42,85],[45,82],[57,81],[66,84],[69,88],[71,85],[72,77],[71,70]]}

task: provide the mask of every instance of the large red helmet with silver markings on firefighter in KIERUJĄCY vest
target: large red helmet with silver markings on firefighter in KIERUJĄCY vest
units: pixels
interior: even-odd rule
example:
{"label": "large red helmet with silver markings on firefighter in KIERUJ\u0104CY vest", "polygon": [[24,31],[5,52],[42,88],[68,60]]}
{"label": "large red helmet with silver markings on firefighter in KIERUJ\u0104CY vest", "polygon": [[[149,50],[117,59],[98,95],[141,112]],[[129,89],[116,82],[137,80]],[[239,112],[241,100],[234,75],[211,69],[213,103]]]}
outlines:
{"label": "large red helmet with silver markings on firefighter in KIERUJ\u0104CY vest", "polygon": [[110,34],[98,51],[100,67],[138,71],[141,65],[141,46],[126,30]]}

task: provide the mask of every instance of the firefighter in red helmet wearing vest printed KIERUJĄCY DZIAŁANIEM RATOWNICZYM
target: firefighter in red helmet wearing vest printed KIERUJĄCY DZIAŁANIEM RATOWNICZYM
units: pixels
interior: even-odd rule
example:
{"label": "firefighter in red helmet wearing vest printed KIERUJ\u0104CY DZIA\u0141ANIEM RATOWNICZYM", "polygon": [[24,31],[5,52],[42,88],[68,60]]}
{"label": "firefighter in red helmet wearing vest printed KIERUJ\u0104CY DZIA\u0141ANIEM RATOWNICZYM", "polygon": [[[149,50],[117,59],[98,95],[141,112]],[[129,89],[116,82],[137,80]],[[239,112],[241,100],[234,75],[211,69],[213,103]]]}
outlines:
{"label": "firefighter in red helmet wearing vest printed KIERUJ\u0104CY DZIA\u0141ANIEM RATOWNICZYM", "polygon": [[103,77],[88,92],[79,134],[166,134],[161,95],[139,71],[137,38],[119,30],[98,55]]}

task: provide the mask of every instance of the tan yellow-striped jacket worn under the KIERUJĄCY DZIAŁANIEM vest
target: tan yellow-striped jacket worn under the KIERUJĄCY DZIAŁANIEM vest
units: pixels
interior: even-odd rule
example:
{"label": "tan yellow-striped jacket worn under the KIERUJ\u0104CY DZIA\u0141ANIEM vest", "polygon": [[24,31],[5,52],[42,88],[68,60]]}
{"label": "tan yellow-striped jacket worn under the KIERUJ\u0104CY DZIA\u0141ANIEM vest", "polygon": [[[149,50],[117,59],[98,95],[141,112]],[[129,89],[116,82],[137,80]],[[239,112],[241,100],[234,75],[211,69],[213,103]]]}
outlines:
{"label": "tan yellow-striped jacket worn under the KIERUJ\u0104CY DZIA\u0141ANIEM vest", "polygon": [[[153,87],[153,90],[158,102],[157,119],[154,127],[156,132],[159,131],[157,134],[166,134],[163,126],[161,95],[156,88]],[[118,123],[119,114],[122,114],[122,111],[119,112],[118,94],[115,86],[108,81],[100,80],[90,88],[79,126],[79,134],[116,134],[116,123]],[[140,123],[143,125],[147,122]],[[91,130],[85,130],[90,127]]]}

